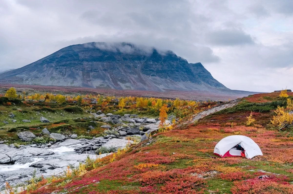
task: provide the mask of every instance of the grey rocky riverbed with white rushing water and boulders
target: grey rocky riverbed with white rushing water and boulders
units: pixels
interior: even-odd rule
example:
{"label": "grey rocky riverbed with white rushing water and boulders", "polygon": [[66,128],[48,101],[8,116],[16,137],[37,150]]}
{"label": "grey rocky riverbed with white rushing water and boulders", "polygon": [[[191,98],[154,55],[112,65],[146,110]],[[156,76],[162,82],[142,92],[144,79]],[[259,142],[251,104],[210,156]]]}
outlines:
{"label": "grey rocky riverbed with white rushing water and boulders", "polygon": [[[134,141],[130,137],[144,141],[148,135],[156,131],[159,126],[158,119],[139,118],[137,115],[107,115],[102,112],[91,113],[91,119],[95,117],[101,122],[115,124],[112,127],[105,124],[103,136],[93,139],[75,139],[77,136],[72,134],[64,136],[62,134],[50,133],[43,129],[43,133],[56,139],[55,143],[50,142],[44,145],[32,144],[21,145],[16,148],[13,144],[0,144],[0,189],[5,187],[5,182],[12,185],[25,183],[33,176],[36,170],[36,176],[59,176],[64,173],[67,166],[78,166],[79,162],[84,162],[86,157],[91,159],[105,157],[111,153],[96,155],[95,151],[101,146],[106,148],[124,148],[127,144]],[[171,124],[173,117],[165,122]],[[95,122],[95,121],[92,121]],[[23,132],[21,132],[23,133]],[[18,135],[19,138],[35,138],[29,131]],[[133,139],[132,138],[132,139]]]}

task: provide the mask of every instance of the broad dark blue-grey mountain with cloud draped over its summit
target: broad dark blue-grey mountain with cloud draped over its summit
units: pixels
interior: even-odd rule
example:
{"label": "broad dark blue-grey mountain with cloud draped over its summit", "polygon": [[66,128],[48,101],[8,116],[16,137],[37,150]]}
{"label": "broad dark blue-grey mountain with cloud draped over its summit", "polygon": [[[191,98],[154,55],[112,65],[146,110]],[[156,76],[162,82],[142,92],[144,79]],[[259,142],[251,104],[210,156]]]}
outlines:
{"label": "broad dark blue-grey mountain with cloud draped over its summit", "polygon": [[0,82],[148,91],[229,90],[201,63],[188,63],[172,51],[105,42],[67,46],[1,73]]}

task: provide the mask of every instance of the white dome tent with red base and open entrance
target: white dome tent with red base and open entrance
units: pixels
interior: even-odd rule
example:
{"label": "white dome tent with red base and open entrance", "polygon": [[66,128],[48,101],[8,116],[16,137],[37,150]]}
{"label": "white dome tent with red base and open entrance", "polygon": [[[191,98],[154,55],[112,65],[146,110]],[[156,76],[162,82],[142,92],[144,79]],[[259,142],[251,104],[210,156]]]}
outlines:
{"label": "white dome tent with red base and open entrance", "polygon": [[263,155],[258,145],[251,138],[243,135],[231,135],[223,138],[215,146],[214,154],[220,157],[241,156],[241,150],[237,150],[236,146],[241,146],[240,148],[244,149],[245,157],[248,159]]}

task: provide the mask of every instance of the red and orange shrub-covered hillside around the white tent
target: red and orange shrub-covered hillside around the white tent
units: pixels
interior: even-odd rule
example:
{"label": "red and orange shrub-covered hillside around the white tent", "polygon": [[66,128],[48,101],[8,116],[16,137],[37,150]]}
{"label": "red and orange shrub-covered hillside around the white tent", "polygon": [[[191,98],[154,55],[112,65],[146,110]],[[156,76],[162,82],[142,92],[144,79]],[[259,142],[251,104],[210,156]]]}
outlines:
{"label": "red and orange shrub-covered hillside around the white tent", "polygon": [[[286,106],[278,93],[243,98],[188,127],[97,160],[82,176],[44,183],[31,193],[293,193],[293,129],[271,125],[277,105]],[[251,112],[255,122],[247,126]],[[208,156],[217,142],[235,134],[252,138],[263,156]]]}

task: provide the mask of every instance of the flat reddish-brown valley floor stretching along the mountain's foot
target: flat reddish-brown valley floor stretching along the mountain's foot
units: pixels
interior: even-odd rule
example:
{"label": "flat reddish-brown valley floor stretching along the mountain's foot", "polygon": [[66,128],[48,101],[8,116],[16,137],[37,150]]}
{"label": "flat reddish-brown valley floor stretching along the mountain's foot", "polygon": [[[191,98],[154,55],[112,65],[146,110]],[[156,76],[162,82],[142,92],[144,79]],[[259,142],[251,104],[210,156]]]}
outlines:
{"label": "flat reddish-brown valley floor stretching along the mountain's foot", "polygon": [[169,90],[164,92],[157,91],[143,91],[143,90],[116,90],[116,89],[96,89],[96,88],[83,88],[72,86],[41,86],[41,85],[21,85],[21,84],[0,84],[0,93],[5,93],[6,89],[15,87],[17,90],[28,91],[29,93],[39,92],[52,92],[64,94],[101,94],[101,95],[115,95],[115,96],[137,96],[137,97],[154,97],[154,98],[180,98],[185,100],[198,100],[198,101],[227,101],[228,99],[234,100],[242,98],[250,94],[260,92],[249,92],[239,90],[219,90],[219,91],[175,91]]}

